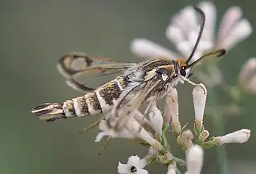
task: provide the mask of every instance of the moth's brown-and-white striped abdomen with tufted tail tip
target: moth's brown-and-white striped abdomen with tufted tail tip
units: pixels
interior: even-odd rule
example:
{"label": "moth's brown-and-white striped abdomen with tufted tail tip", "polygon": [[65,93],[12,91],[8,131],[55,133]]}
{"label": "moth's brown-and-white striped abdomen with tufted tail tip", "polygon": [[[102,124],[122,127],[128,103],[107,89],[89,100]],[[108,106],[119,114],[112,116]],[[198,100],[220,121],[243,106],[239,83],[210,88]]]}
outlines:
{"label": "moth's brown-and-white striped abdomen with tufted tail tip", "polygon": [[63,104],[43,104],[35,107],[32,112],[41,120],[48,122],[67,117],[84,117],[96,115],[111,110],[116,99],[119,98],[124,88],[128,86],[125,76],[120,76],[95,91],[65,101]]}

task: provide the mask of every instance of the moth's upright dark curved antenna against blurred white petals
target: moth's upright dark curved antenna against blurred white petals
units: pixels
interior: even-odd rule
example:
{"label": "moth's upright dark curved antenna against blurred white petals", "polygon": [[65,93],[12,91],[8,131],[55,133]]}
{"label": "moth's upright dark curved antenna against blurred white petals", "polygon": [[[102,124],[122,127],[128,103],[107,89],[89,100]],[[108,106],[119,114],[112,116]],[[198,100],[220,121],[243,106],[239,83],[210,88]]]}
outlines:
{"label": "moth's upright dark curved antenna against blurred white petals", "polygon": [[193,9],[195,9],[196,12],[198,12],[200,14],[200,17],[201,17],[200,23],[201,23],[201,25],[200,25],[200,30],[199,30],[199,36],[197,36],[197,38],[196,38],[195,46],[193,46],[193,50],[191,51],[191,55],[188,57],[188,59],[186,61],[187,65],[188,65],[188,62],[192,59],[193,54],[195,53],[196,48],[199,45],[199,41],[201,39],[201,35],[202,35],[203,31],[204,31],[204,23],[205,23],[205,14],[204,14],[203,10],[199,9],[198,7],[193,7]]}

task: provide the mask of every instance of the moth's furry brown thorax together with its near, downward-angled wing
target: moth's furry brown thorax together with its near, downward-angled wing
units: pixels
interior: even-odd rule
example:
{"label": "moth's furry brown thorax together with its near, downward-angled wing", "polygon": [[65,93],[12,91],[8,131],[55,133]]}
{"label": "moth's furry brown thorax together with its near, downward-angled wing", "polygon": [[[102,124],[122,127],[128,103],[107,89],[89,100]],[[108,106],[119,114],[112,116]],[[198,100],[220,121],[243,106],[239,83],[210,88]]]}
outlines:
{"label": "moth's furry brown thorax together with its near, downward-angled wing", "polygon": [[131,73],[128,76],[132,77],[132,83],[113,105],[108,119],[108,125],[114,130],[124,128],[141,104],[151,104],[154,99],[161,98],[175,82],[175,68],[170,59],[151,59]]}

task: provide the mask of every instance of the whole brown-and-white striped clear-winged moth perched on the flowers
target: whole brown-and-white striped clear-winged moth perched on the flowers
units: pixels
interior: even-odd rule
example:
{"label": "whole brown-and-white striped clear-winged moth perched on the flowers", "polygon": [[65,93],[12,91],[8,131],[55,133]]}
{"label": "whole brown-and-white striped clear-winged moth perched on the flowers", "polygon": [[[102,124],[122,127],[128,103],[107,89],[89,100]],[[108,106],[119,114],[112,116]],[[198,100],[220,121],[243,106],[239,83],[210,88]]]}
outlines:
{"label": "whole brown-and-white striped clear-winged moth perched on the flowers", "polygon": [[[164,97],[177,83],[187,82],[196,86],[196,83],[188,79],[193,74],[196,64],[205,57],[222,56],[225,49],[204,54],[189,64],[199,44],[205,23],[204,12],[197,7],[193,8],[200,14],[201,25],[196,43],[186,61],[156,57],[135,63],[82,53],[65,54],[57,63],[58,69],[67,78],[69,86],[87,93],[62,103],[41,104],[34,107],[32,113],[47,122],[103,113],[108,114],[105,119],[111,128],[121,130],[129,117],[132,117],[132,113],[142,104],[147,105],[144,112],[146,115],[152,102]],[[105,77],[116,73],[121,75],[97,88],[89,87],[85,83],[86,80],[81,80],[89,74]]]}

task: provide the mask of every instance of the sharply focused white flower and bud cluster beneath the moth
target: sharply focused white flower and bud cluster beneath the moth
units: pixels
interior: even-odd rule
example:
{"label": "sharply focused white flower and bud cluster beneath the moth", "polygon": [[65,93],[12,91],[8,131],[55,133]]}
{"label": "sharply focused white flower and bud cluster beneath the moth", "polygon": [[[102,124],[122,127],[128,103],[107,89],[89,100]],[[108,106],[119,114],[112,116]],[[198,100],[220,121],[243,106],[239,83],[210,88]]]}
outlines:
{"label": "sharply focused white flower and bud cluster beneath the moth", "polygon": [[[180,129],[179,115],[178,115],[178,102],[177,102],[177,91],[173,88],[169,91],[166,101],[171,101],[166,107],[164,115],[171,120],[172,123],[172,132],[174,133],[177,144],[180,145],[181,150],[185,152],[186,161],[183,159],[178,159],[175,157],[175,152],[171,151],[169,144],[166,141],[163,116],[159,109],[156,107],[156,104],[153,104],[148,117],[145,118],[145,122],[148,122],[148,127],[151,127],[152,131],[142,130],[138,131],[136,117],[129,120],[130,123],[127,123],[127,126],[124,130],[120,132],[111,132],[107,126],[105,126],[105,121],[100,122],[100,132],[96,138],[96,141],[105,136],[112,136],[113,138],[130,138],[130,139],[139,139],[140,143],[148,147],[148,154],[140,159],[140,157],[131,156],[128,159],[127,164],[122,164],[119,162],[118,172],[121,174],[126,173],[148,173],[144,169],[146,165],[152,165],[153,163],[159,162],[168,166],[167,173],[176,173],[178,166],[186,166],[187,173],[190,174],[199,174],[201,172],[204,150],[209,149],[214,146],[220,146],[222,144],[229,143],[244,143],[249,140],[250,130],[241,129],[233,133],[228,133],[225,136],[212,136],[209,138],[209,132],[204,128],[203,119],[204,119],[204,108],[207,99],[207,88],[200,84],[193,88],[193,107],[195,113],[195,122],[193,131]],[[137,111],[136,115],[141,115]],[[135,119],[135,120],[134,120]],[[159,125],[163,127],[162,130],[159,130]],[[134,131],[135,130],[135,131]],[[153,133],[155,133],[153,135]],[[159,134],[161,137],[159,138]],[[151,137],[151,138],[149,138]],[[195,139],[195,141],[193,141]],[[157,144],[156,142],[159,142]]]}

